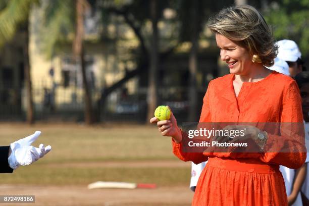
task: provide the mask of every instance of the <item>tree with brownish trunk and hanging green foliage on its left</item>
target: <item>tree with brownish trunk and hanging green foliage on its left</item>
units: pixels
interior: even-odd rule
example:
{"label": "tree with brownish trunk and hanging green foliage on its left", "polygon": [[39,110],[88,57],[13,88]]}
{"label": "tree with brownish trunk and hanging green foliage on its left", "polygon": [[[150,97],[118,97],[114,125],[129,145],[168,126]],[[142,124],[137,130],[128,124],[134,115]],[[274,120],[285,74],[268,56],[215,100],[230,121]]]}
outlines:
{"label": "tree with brownish trunk and hanging green foliage on its left", "polygon": [[[91,1],[93,3],[93,1]],[[51,58],[57,49],[60,39],[68,39],[68,34],[74,34],[72,51],[76,64],[80,64],[84,89],[84,117],[85,123],[90,125],[94,122],[91,91],[86,78],[84,60],[84,15],[91,5],[87,0],[55,0],[48,1],[45,8],[43,36],[43,50],[47,57]]]}

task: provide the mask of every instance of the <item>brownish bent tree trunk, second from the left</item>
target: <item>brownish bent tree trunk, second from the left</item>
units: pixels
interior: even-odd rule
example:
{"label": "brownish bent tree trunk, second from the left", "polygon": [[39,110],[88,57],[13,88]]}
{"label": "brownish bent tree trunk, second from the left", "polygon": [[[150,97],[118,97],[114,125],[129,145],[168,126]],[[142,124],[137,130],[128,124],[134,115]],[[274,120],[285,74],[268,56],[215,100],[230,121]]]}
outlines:
{"label": "brownish bent tree trunk, second from the left", "polygon": [[93,123],[93,110],[91,91],[86,77],[86,67],[84,60],[84,48],[83,48],[83,34],[84,34],[84,6],[86,0],[76,0],[76,31],[75,39],[73,42],[73,53],[75,61],[80,64],[82,70],[83,88],[84,88],[84,116],[85,123],[90,125]]}

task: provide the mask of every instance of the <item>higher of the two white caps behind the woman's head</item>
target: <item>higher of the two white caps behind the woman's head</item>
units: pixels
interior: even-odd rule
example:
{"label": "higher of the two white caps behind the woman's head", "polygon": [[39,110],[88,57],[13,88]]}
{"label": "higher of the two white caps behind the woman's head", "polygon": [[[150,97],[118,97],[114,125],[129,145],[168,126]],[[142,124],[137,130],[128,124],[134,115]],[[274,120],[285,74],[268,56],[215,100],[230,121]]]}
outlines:
{"label": "higher of the two white caps behind the woman's head", "polygon": [[296,62],[298,58],[301,58],[301,53],[295,41],[283,39],[277,42],[278,56],[280,59],[286,62]]}

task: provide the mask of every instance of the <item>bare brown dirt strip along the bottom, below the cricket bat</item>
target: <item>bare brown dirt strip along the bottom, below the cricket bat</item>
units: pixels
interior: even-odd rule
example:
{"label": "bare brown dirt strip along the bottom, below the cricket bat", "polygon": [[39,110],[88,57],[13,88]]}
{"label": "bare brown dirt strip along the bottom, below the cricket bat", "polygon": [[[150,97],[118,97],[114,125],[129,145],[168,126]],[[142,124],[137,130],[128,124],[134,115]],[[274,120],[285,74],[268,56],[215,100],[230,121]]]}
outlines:
{"label": "bare brown dirt strip along the bottom, below the cricket bat", "polygon": [[[87,189],[77,186],[0,185],[2,195],[35,195],[35,203],[23,205],[190,205],[188,186],[156,189]],[[1,203],[1,205],[6,205]],[[20,205],[9,203],[8,205]]]}

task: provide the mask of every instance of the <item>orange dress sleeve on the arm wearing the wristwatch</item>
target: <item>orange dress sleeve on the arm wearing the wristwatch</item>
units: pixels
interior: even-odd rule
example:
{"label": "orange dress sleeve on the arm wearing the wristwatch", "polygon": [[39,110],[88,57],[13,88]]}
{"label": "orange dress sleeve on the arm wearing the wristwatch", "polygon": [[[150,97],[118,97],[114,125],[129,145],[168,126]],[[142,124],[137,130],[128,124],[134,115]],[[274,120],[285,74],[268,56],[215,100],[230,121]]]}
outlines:
{"label": "orange dress sleeve on the arm wearing the wristwatch", "polygon": [[[266,152],[260,159],[266,163],[275,163],[292,169],[300,168],[306,159],[306,148],[303,138],[304,129],[302,127],[301,97],[299,95],[298,86],[294,80],[289,82],[284,88],[281,123],[283,123],[282,125],[285,123],[294,125],[296,127],[294,128],[296,130],[295,136],[289,136],[282,141],[282,139],[280,139],[282,136],[269,134],[266,150],[274,152]],[[281,130],[281,134],[282,133],[284,133],[284,131]],[[290,148],[292,152],[279,152],[281,148]]]}

